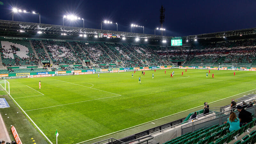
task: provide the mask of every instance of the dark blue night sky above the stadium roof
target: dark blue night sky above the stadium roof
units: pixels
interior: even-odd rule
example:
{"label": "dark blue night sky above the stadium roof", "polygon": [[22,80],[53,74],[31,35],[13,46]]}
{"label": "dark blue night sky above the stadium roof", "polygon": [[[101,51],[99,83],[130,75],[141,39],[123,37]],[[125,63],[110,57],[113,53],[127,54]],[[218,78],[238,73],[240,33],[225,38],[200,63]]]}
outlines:
{"label": "dark blue night sky above the stadium roof", "polygon": [[[165,8],[166,36],[188,36],[256,27],[256,1],[251,0],[0,0],[0,19],[12,20],[12,7],[41,14],[41,23],[62,25],[63,15],[84,18],[85,28],[100,29],[102,20],[118,23],[118,31],[131,31],[131,24],[154,34],[160,27],[161,5]],[[39,16],[14,14],[14,20],[39,23]],[[83,21],[64,20],[65,26],[83,27]],[[116,25],[103,29],[116,30]],[[132,32],[143,33],[142,28]],[[160,31],[156,31],[161,35]]]}

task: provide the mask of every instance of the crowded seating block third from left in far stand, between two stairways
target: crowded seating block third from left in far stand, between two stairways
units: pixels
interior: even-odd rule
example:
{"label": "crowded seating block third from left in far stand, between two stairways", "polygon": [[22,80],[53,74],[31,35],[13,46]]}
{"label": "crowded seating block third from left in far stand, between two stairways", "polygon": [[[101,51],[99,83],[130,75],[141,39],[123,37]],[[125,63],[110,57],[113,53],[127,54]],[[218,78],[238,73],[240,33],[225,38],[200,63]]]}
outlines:
{"label": "crowded seating block third from left in far stand, between two stairways", "polygon": [[66,42],[43,41],[47,52],[56,65],[81,64]]}

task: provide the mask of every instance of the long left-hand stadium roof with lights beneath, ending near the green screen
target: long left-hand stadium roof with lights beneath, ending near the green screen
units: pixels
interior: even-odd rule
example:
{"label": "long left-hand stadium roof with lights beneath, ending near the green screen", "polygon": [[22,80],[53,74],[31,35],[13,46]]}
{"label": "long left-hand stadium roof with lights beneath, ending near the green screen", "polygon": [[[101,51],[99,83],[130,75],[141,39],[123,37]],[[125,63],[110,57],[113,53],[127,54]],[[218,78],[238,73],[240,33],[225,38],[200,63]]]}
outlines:
{"label": "long left-hand stadium roof with lights beneath, ending near the green screen", "polygon": [[[20,30],[24,30],[24,33],[19,33]],[[149,35],[149,34],[140,34],[140,33],[130,33],[122,31],[113,31],[113,30],[104,30],[104,29],[92,29],[92,28],[78,28],[78,27],[68,27],[68,26],[59,26],[59,25],[50,25],[50,24],[39,24],[31,22],[20,22],[20,21],[11,21],[11,20],[0,20],[0,35],[1,36],[17,36],[17,31],[21,36],[33,36],[34,38],[64,38],[72,39],[78,38],[77,40],[84,40],[84,38],[79,37],[80,34],[86,34],[87,36],[92,36],[99,33],[104,34],[115,34],[120,35],[121,38],[125,37],[126,39],[135,38],[140,39],[151,39],[153,41],[160,41],[163,39],[171,39],[170,36],[159,36],[159,35]],[[38,31],[42,31],[44,34],[37,35]],[[14,34],[15,33],[15,34]],[[61,33],[67,34],[65,37],[59,37]],[[72,37],[68,37],[72,36]],[[89,37],[88,37],[89,38]],[[106,39],[106,38],[104,38]],[[101,39],[100,39],[101,40]],[[119,38],[114,38],[108,41],[120,41]]]}

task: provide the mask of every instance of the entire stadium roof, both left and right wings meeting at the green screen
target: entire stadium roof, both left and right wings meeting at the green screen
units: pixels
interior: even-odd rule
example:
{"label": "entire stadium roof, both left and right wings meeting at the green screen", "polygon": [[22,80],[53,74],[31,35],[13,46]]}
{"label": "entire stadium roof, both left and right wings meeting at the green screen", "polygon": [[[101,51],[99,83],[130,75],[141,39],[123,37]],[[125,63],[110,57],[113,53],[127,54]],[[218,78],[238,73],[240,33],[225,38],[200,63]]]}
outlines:
{"label": "entire stadium roof, both left and right wings meeting at the green screen", "polygon": [[[20,32],[23,30],[24,32]],[[37,34],[38,31],[42,31],[42,34]],[[61,35],[65,33],[67,35]],[[95,39],[95,35],[99,33],[105,34],[115,34],[120,35],[121,38],[125,37],[125,41],[120,38],[105,38],[99,37]],[[86,34],[87,37],[81,37],[79,35]],[[191,36],[180,37],[183,40],[188,40],[188,43],[198,39],[200,42],[209,41],[225,41],[225,40],[235,40],[253,38],[256,35],[256,28],[222,31],[208,34],[198,34]],[[79,28],[79,27],[68,27],[50,24],[39,24],[31,22],[20,22],[11,20],[0,20],[0,36],[12,36],[12,37],[28,37],[28,38],[45,38],[45,39],[63,39],[63,40],[78,40],[78,41],[101,41],[101,42],[127,42],[134,43],[135,38],[148,39],[148,42],[140,41],[140,43],[145,44],[161,44],[161,41],[167,40],[167,42],[175,37],[172,36],[160,36],[160,35],[150,35],[150,34],[140,34],[140,33],[130,33],[122,31],[104,30],[104,29],[93,29],[93,28]],[[225,38],[225,39],[223,39]],[[186,44],[185,41],[183,44]]]}

